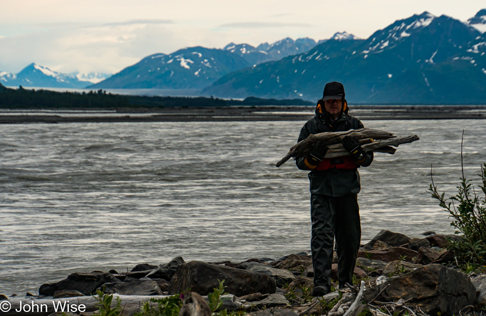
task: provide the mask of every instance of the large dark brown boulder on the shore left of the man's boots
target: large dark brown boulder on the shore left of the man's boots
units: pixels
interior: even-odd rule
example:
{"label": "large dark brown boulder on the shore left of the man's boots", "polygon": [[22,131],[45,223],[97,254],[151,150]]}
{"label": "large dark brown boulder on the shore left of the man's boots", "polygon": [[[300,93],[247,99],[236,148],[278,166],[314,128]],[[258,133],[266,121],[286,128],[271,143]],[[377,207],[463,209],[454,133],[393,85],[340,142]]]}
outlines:
{"label": "large dark brown boulder on the shore left of the man's boots", "polygon": [[276,289],[275,280],[268,275],[224,265],[191,261],[178,267],[170,280],[168,292],[169,295],[173,295],[191,288],[198,294],[207,295],[223,280],[226,291],[237,297],[256,292],[272,294]]}

